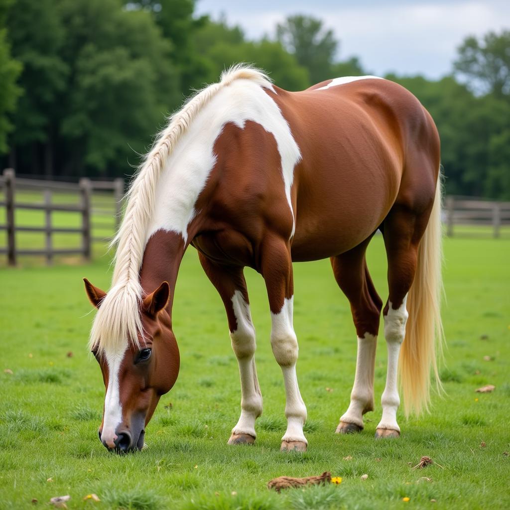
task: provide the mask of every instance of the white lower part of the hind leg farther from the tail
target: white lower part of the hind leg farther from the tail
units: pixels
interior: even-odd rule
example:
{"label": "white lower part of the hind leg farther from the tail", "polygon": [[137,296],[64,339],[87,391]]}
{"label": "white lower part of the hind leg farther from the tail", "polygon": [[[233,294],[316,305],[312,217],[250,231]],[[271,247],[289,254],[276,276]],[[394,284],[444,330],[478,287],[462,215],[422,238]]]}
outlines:
{"label": "white lower part of the hind leg farther from the tail", "polygon": [[363,428],[363,414],[374,409],[374,366],[377,337],[365,333],[358,337],[356,375],[351,391],[349,408],[340,418],[344,423],[354,423]]}

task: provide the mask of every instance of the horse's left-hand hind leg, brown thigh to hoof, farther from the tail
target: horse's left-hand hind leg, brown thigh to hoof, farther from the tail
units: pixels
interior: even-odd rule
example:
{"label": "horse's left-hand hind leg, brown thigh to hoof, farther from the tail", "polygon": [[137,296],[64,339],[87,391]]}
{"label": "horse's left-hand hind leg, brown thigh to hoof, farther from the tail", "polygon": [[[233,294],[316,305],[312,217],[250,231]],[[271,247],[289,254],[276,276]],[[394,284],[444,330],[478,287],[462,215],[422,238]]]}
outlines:
{"label": "horse's left-hand hind leg, brown thigh to hoof, farther from the tail", "polygon": [[365,260],[370,239],[331,258],[335,279],[349,299],[358,336],[356,373],[347,411],[340,418],[337,433],[359,432],[363,415],[374,409],[374,366],[382,301],[378,296]]}

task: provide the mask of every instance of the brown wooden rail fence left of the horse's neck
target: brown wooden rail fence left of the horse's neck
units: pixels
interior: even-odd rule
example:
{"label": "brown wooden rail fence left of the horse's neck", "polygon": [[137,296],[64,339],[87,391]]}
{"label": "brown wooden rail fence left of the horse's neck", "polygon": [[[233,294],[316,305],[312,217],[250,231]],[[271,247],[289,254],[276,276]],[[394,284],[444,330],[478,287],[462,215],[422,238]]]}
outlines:
{"label": "brown wooden rail fence left of the horse's neck", "polygon": [[[64,254],[82,255],[86,260],[92,257],[92,242],[104,240],[103,237],[97,238],[92,235],[93,226],[111,227],[112,233],[118,227],[121,214],[121,201],[124,194],[124,180],[115,179],[114,181],[91,181],[90,179],[80,179],[76,183],[64,183],[56,181],[36,181],[32,179],[19,179],[14,170],[8,168],[0,176],[0,189],[4,190],[5,199],[0,201],[0,207],[5,207],[6,223],[0,224],[0,231],[7,231],[6,246],[0,246],[0,254],[7,254],[7,262],[10,266],[16,265],[18,256],[34,255],[44,256],[48,264],[52,263],[54,256]],[[16,191],[39,191],[43,193],[42,203],[33,203],[28,201],[18,201]],[[114,208],[92,207],[92,194],[95,191],[113,192]],[[53,203],[54,192],[66,193],[79,198],[78,203]],[[27,226],[16,223],[16,210],[36,210],[44,211],[44,226]],[[52,221],[52,213],[71,212],[81,216],[81,226],[67,227],[55,226]],[[92,214],[108,215],[114,217],[114,223],[94,223]],[[18,248],[16,243],[16,233],[18,232],[39,232],[45,236],[45,246],[43,248]],[[57,248],[53,245],[53,234],[80,234],[81,246],[69,248]]]}

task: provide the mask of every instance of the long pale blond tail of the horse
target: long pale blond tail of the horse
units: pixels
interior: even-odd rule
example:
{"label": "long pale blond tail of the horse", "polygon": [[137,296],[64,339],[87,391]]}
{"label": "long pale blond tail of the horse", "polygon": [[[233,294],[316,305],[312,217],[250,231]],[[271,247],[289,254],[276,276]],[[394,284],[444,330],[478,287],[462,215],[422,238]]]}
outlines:
{"label": "long pale blond tail of the horse", "polygon": [[428,411],[430,371],[438,392],[442,391],[437,362],[437,357],[441,358],[443,354],[444,343],[441,322],[442,263],[440,172],[430,218],[418,248],[413,285],[407,297],[409,320],[398,367],[405,416],[413,411],[417,415],[423,410]]}

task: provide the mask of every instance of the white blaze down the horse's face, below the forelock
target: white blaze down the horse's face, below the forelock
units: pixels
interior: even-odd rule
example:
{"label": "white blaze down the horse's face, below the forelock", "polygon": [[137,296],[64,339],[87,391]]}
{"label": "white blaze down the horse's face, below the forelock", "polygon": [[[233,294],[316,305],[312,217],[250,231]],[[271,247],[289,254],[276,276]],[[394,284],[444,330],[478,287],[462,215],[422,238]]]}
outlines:
{"label": "white blaze down the horse's face, below the forelock", "polygon": [[119,369],[124,359],[124,353],[127,345],[122,345],[116,351],[106,352],[106,361],[108,363],[108,388],[105,397],[105,413],[103,416],[103,432],[101,440],[105,441],[110,448],[115,447],[114,441],[117,439],[115,430],[122,421],[122,405],[120,403],[119,392]]}

